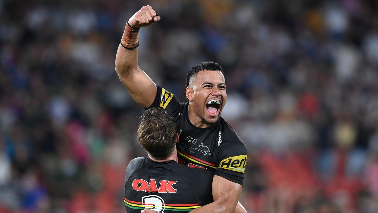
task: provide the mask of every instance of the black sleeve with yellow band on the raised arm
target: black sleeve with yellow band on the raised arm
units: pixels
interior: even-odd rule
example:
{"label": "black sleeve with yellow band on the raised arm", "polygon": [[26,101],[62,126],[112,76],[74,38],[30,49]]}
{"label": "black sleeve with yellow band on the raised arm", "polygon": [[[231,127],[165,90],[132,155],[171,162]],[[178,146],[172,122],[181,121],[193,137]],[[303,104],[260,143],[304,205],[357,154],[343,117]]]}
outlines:
{"label": "black sleeve with yellow band on the raised arm", "polygon": [[178,102],[177,97],[172,92],[169,92],[160,86],[156,86],[156,90],[155,100],[150,107],[145,109],[148,110],[152,107],[161,107],[172,117],[174,117],[175,114],[178,114],[181,103]]}

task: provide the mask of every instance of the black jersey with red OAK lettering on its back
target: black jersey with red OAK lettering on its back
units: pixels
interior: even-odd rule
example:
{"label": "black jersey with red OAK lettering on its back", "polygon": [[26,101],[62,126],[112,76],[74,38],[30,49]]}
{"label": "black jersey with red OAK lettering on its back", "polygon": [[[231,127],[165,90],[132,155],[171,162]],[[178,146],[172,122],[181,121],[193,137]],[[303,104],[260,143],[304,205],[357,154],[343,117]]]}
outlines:
{"label": "black jersey with red OAK lettering on its back", "polygon": [[140,213],[146,207],[157,212],[183,213],[212,203],[212,175],[211,171],[189,168],[176,161],[135,158],[125,176],[127,213]]}

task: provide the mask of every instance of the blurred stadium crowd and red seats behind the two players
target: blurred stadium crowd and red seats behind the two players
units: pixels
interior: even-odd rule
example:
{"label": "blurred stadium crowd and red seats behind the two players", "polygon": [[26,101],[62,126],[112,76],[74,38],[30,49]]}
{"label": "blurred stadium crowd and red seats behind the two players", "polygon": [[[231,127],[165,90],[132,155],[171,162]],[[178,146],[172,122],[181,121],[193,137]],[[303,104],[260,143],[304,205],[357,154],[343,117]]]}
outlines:
{"label": "blurred stadium crowd and red seats behind the two players", "polygon": [[249,213],[378,212],[375,0],[0,0],[0,212],[125,212],[144,110],[114,61],[147,4],[157,85],[186,102],[190,67],[225,70]]}

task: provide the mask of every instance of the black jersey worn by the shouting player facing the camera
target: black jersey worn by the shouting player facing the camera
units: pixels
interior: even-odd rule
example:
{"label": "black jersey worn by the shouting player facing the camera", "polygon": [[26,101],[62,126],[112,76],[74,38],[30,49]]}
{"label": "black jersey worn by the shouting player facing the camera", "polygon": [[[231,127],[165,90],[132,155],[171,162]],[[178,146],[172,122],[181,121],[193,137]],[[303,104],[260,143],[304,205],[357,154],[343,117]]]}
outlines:
{"label": "black jersey worn by the shouting player facing the camera", "polygon": [[247,149],[234,129],[222,116],[210,127],[196,127],[189,121],[189,103],[180,103],[172,92],[156,88],[155,100],[149,108],[161,107],[174,117],[180,136],[179,163],[215,171],[215,175],[243,185]]}

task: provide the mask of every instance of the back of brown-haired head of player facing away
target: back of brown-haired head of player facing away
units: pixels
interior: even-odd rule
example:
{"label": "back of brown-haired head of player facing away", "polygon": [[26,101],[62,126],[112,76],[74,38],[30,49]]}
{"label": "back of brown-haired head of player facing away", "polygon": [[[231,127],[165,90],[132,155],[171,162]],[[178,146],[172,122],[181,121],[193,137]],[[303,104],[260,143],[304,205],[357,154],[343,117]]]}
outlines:
{"label": "back of brown-haired head of player facing away", "polygon": [[140,117],[138,143],[155,159],[169,157],[176,145],[177,126],[173,117],[160,107],[146,110]]}

